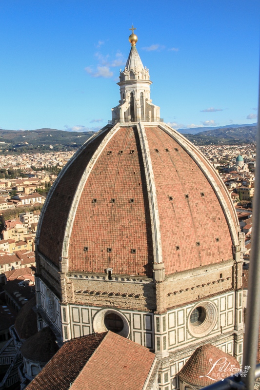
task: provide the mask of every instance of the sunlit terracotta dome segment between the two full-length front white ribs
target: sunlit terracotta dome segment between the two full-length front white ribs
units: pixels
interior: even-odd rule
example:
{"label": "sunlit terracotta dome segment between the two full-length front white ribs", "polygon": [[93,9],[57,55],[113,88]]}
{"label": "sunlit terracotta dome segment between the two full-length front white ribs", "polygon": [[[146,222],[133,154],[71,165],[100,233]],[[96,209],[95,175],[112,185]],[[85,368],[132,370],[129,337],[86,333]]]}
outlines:
{"label": "sunlit terracotta dome segment between the two full-length front white ribs", "polygon": [[75,215],[69,259],[71,271],[104,273],[112,268],[114,274],[152,277],[149,202],[136,127],[120,128],[96,161]]}

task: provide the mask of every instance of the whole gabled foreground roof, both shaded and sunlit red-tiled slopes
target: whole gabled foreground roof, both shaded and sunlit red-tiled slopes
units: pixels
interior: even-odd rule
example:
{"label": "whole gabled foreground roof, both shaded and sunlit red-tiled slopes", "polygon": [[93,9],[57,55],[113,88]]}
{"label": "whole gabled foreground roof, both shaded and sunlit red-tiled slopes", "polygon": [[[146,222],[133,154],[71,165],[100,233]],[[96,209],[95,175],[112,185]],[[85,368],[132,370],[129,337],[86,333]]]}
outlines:
{"label": "whole gabled foreground roof, both shaded and sunlit red-tiled slopes", "polygon": [[141,390],[155,359],[118,334],[91,334],[65,343],[26,390]]}

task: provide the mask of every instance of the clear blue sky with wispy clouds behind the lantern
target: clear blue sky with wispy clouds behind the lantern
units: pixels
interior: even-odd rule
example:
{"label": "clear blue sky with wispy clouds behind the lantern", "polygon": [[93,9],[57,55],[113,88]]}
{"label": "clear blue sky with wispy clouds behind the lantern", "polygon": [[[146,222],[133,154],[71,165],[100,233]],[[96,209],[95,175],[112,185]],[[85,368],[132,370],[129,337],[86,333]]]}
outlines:
{"label": "clear blue sky with wispy clouds behind the lantern", "polygon": [[0,127],[99,129],[131,45],[173,127],[256,122],[259,0],[1,0]]}

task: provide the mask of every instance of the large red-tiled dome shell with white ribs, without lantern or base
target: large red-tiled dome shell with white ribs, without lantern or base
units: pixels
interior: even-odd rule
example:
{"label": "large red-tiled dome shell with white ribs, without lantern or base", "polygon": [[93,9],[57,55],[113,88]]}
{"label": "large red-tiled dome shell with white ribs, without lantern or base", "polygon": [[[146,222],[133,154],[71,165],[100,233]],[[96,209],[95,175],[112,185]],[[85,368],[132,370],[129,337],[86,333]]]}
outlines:
{"label": "large red-tiled dome shell with white ribs, without lantern or base", "polygon": [[43,206],[40,255],[69,271],[152,277],[233,258],[238,220],[213,166],[163,123],[106,126],[58,176]]}

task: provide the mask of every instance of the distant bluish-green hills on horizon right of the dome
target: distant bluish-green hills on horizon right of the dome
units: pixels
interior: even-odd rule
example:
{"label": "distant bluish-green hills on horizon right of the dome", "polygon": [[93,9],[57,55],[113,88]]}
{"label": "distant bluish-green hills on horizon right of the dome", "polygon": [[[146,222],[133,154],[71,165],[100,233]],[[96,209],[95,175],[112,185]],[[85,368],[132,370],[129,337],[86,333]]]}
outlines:
{"label": "distant bluish-green hills on horizon right of the dome", "polygon": [[229,127],[207,130],[198,134],[183,134],[195,145],[238,145],[241,143],[255,143],[256,126]]}

